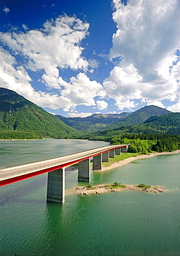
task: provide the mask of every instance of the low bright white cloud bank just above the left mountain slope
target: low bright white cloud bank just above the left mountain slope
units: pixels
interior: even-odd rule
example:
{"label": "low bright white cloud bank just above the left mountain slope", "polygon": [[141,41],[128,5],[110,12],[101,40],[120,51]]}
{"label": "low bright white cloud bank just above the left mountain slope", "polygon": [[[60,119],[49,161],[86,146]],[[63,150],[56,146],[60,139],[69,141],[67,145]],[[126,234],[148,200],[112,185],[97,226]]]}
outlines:
{"label": "low bright white cloud bank just above the left mountain slope", "polygon": [[[18,66],[15,58],[7,51],[0,48],[0,81],[1,86],[16,91],[28,100],[51,109],[73,111],[77,105],[95,106],[95,97],[105,95],[103,86],[91,81],[85,73],[79,73],[77,77],[71,77],[70,82],[66,82],[59,77],[59,95],[57,93],[45,93],[34,91],[31,85],[31,78],[23,66]],[[54,69],[52,68],[52,73]],[[46,79],[50,77],[46,76]],[[51,80],[53,84],[53,80]],[[56,81],[54,82],[56,84]],[[62,88],[61,88],[62,87]]]}

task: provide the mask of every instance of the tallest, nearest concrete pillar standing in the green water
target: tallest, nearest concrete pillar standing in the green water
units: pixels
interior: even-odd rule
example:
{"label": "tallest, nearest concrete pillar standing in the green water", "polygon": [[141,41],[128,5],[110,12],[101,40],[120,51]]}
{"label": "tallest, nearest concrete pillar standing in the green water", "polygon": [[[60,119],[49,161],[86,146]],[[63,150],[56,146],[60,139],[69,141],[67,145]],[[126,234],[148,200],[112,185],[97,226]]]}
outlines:
{"label": "tallest, nearest concrete pillar standing in the green water", "polygon": [[48,172],[47,201],[65,201],[65,168]]}

